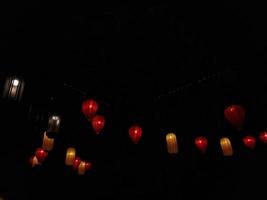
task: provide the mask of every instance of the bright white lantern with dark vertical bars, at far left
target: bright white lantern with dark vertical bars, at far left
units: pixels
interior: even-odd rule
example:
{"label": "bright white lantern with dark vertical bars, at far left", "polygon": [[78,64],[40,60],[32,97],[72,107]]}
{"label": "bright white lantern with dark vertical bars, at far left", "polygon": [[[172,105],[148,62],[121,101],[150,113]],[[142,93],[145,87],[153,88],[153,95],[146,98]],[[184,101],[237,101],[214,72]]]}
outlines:
{"label": "bright white lantern with dark vertical bars, at far left", "polygon": [[17,77],[8,77],[5,82],[3,98],[20,100],[24,90],[24,81]]}

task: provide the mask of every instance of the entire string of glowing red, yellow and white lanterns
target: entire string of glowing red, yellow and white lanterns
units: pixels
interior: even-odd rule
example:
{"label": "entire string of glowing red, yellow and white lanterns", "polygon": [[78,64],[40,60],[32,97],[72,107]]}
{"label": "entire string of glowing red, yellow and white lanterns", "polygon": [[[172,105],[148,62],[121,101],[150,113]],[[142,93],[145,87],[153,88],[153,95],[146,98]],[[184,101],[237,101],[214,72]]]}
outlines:
{"label": "entire string of glowing red, yellow and white lanterns", "polygon": [[[12,100],[20,100],[23,88],[24,82],[22,79],[18,79],[17,77],[8,78],[5,84],[3,97]],[[95,134],[101,134],[101,131],[105,127],[106,119],[103,115],[98,114],[98,103],[93,99],[85,100],[82,102],[81,110],[94,129]],[[241,131],[246,116],[246,111],[241,105],[227,106],[224,109],[224,116],[234,129]],[[42,147],[37,148],[34,156],[30,158],[32,167],[42,165],[47,159],[49,152],[52,151],[54,146],[53,136],[59,131],[60,124],[61,118],[59,115],[53,114],[49,117],[48,128],[43,134]],[[142,134],[142,127],[139,125],[132,125],[128,129],[128,136],[135,145],[139,143]],[[259,139],[264,144],[267,144],[267,131],[262,131],[259,134]],[[244,136],[242,142],[248,149],[254,149],[256,146],[256,138],[251,135]],[[234,154],[231,140],[228,137],[220,138],[219,143],[224,156],[232,156]],[[208,148],[209,142],[206,137],[198,136],[195,138],[194,144],[196,148],[204,154]],[[166,134],[166,146],[169,154],[178,154],[179,145],[175,133],[171,132]],[[66,151],[65,164],[66,166],[72,166],[73,169],[78,171],[79,175],[85,174],[87,170],[92,168],[92,163],[81,160],[80,157],[76,155],[76,150],[73,147],[69,147]]]}

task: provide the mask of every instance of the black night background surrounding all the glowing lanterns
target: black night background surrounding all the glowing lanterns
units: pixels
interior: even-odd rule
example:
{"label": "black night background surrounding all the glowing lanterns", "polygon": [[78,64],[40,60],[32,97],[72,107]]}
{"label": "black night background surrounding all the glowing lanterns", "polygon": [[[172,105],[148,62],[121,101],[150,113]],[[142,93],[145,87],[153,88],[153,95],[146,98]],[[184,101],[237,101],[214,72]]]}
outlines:
{"label": "black night background surrounding all the glowing lanterns", "polygon": [[[20,102],[1,99],[0,194],[7,199],[262,199],[266,187],[266,13],[221,3],[29,4],[0,8],[0,80],[24,79]],[[2,93],[2,92],[1,92]],[[107,118],[95,135],[81,103],[95,98]],[[246,108],[242,131],[224,119]],[[55,147],[36,168],[50,113],[62,116]],[[143,127],[138,145],[128,138]],[[165,135],[175,132],[179,154]],[[254,150],[242,136],[257,137]],[[194,146],[209,139],[205,155]],[[222,156],[228,136],[234,156]],[[84,176],[65,151],[93,163]]]}

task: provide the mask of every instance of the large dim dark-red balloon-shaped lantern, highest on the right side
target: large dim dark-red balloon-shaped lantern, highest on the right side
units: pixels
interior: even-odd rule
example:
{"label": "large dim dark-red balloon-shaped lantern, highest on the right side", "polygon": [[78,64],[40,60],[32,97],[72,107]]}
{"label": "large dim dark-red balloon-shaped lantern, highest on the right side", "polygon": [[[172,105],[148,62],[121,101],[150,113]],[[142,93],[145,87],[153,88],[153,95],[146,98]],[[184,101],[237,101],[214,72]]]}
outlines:
{"label": "large dim dark-red balloon-shaped lantern, highest on the right side", "polygon": [[245,114],[245,109],[240,105],[230,105],[224,110],[227,121],[238,130],[243,125]]}

